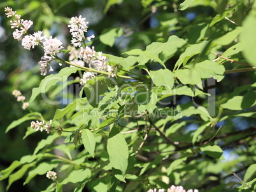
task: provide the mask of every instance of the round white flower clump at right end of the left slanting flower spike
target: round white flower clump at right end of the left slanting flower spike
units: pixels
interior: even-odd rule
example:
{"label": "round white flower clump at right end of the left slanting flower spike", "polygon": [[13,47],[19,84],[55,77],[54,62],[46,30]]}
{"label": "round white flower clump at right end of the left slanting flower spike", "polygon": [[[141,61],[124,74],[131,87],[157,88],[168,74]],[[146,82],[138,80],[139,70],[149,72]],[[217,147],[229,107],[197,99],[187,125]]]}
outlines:
{"label": "round white flower clump at right end of the left slanting flower spike", "polygon": [[59,41],[56,37],[53,39],[52,36],[49,39],[45,38],[45,42],[43,42],[43,49],[45,50],[45,54],[57,54],[62,49],[62,42]]}

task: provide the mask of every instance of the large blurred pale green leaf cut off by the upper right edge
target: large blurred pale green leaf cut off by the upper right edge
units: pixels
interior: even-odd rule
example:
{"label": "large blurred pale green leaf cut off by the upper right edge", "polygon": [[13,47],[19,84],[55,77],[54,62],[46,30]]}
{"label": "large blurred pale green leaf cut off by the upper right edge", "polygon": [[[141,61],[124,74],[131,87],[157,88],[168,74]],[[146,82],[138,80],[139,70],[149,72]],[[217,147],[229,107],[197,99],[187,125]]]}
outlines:
{"label": "large blurred pale green leaf cut off by the upper right edge", "polygon": [[243,22],[243,30],[240,34],[240,41],[243,45],[243,56],[246,60],[256,67],[256,11],[250,11],[249,15]]}

